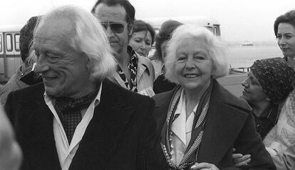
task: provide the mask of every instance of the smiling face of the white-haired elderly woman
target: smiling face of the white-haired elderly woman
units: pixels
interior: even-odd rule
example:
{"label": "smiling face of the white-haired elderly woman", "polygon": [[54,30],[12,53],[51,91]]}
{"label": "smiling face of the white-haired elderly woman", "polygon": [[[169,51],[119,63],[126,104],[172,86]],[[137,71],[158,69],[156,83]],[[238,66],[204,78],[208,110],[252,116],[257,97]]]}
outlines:
{"label": "smiling face of the white-haired elderly woman", "polygon": [[185,90],[202,91],[210,84],[213,64],[205,46],[196,38],[182,39],[177,46],[175,75]]}

